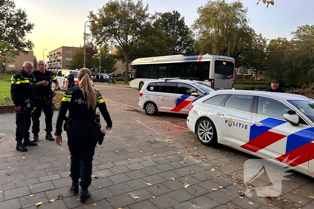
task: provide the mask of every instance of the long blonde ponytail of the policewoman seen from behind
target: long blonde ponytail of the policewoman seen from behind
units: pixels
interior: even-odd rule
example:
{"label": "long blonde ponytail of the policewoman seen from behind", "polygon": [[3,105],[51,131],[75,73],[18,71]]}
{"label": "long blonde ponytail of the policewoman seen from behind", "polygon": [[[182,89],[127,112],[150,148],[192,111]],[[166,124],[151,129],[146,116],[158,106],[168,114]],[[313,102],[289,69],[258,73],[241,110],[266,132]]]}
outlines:
{"label": "long blonde ponytail of the policewoman seen from behind", "polygon": [[85,94],[87,95],[87,108],[92,107],[93,110],[96,109],[96,92],[94,91],[94,87],[90,83],[90,77],[92,73],[87,68],[82,68],[78,71],[78,77],[80,78],[79,88],[83,91],[83,96],[85,100]]}

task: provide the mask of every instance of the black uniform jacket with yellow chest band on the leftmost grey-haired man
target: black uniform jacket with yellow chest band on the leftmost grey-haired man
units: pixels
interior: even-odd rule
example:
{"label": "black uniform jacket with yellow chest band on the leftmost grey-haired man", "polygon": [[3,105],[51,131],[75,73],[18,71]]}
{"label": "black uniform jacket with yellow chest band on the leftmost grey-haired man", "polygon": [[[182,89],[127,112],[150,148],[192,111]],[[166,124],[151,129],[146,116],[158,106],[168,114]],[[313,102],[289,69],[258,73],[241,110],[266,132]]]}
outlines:
{"label": "black uniform jacket with yellow chest band on the leftmost grey-haired man", "polygon": [[11,77],[11,98],[15,107],[24,107],[27,99],[34,99],[36,85],[34,75],[21,70]]}

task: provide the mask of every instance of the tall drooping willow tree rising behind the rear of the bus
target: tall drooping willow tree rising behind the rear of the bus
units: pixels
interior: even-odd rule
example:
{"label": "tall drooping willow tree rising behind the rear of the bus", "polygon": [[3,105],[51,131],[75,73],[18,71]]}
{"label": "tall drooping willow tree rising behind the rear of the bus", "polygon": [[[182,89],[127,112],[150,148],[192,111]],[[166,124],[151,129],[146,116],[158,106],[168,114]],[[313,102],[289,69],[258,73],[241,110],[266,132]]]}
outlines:
{"label": "tall drooping willow tree rising behind the rear of the bus", "polygon": [[254,30],[248,25],[247,8],[240,1],[208,1],[197,12],[199,17],[192,29],[200,53],[237,58],[244,50],[250,50]]}

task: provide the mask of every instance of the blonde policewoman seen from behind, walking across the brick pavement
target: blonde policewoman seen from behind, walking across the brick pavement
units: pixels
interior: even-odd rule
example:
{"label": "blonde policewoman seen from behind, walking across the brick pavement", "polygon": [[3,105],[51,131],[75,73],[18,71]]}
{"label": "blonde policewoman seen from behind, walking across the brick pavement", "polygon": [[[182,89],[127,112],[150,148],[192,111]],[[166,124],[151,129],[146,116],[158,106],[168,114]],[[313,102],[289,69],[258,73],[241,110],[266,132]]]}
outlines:
{"label": "blonde policewoman seen from behind, walking across the brick pavement", "polygon": [[90,83],[91,72],[87,68],[78,71],[79,86],[65,92],[60,106],[56,126],[56,144],[62,143],[62,123],[69,109],[67,136],[71,153],[70,176],[72,194],[78,194],[78,180],[81,186],[80,201],[85,202],[90,197],[88,187],[91,183],[92,161],[97,144],[97,128],[95,127],[95,112],[98,107],[104,117],[106,130],[112,127],[111,118],[105,101],[99,91]]}

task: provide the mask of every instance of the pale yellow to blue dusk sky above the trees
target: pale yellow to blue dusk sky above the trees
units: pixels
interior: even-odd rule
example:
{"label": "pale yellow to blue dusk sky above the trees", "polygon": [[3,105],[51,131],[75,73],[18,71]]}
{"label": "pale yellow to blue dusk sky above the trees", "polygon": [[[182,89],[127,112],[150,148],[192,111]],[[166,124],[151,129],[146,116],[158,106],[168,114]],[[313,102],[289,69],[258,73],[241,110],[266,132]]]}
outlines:
{"label": "pale yellow to blue dusk sky above the trees", "polygon": [[[84,23],[88,20],[88,11],[96,12],[106,2],[108,1],[15,0],[16,7],[25,9],[29,21],[35,24],[32,34],[28,34],[27,38],[35,44],[34,55],[37,59],[43,59],[43,49],[47,49],[46,57],[49,51],[60,46],[83,46]],[[191,26],[198,18],[197,8],[206,2],[206,0],[143,0],[143,3],[148,3],[150,13],[177,10],[185,17],[187,26]],[[262,33],[268,39],[287,37],[290,40],[290,33],[299,25],[314,24],[313,0],[275,0],[275,5],[269,5],[268,9],[263,3],[256,5],[257,0],[241,2],[248,8],[250,26],[257,34]]]}

